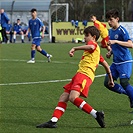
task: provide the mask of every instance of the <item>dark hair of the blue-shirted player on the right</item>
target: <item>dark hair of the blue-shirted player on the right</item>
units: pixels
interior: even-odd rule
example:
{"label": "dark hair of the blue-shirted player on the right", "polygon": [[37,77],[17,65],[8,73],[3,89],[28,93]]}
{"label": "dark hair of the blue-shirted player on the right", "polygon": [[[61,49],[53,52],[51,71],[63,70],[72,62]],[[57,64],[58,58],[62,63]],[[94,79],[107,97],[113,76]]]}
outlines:
{"label": "dark hair of the blue-shirted player on the right", "polygon": [[111,9],[106,13],[106,19],[110,19],[110,18],[117,18],[119,17],[119,11],[116,9]]}

